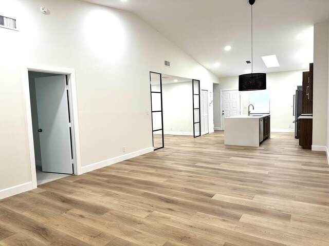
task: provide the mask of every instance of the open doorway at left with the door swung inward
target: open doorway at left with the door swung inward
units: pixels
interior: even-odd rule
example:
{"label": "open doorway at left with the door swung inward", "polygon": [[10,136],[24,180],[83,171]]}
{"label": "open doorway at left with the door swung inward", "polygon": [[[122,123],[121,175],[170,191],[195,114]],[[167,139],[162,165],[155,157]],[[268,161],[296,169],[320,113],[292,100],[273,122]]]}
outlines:
{"label": "open doorway at left with the door swung inward", "polygon": [[28,72],[36,183],[74,173],[69,75]]}

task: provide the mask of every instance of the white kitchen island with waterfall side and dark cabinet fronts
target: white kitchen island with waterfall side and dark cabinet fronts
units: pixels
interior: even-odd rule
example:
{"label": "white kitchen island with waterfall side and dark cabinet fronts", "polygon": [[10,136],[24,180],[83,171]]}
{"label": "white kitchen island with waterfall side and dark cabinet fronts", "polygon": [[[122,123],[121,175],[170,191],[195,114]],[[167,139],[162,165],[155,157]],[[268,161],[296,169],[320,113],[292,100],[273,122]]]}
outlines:
{"label": "white kitchen island with waterfall side and dark cabinet fronts", "polygon": [[269,122],[265,125],[265,120],[270,120],[269,116],[262,114],[226,117],[224,144],[259,147],[260,142],[270,137]]}

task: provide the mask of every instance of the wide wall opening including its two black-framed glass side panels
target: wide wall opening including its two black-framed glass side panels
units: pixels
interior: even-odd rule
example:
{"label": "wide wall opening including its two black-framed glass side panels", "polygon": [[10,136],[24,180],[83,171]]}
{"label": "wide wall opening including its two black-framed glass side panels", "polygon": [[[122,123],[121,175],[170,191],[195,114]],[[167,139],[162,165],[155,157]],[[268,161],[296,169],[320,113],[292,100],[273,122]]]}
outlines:
{"label": "wide wall opening including its two black-framed glass side panels", "polygon": [[201,135],[199,80],[150,72],[154,150],[166,135]]}

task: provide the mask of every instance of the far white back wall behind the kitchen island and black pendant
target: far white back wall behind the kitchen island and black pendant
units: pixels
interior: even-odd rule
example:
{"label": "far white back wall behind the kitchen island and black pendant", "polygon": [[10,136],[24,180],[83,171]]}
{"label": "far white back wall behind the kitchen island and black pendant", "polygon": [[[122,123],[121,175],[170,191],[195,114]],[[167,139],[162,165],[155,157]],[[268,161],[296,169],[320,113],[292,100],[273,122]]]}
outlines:
{"label": "far white back wall behind the kitchen island and black pendant", "polygon": [[[271,131],[294,132],[295,116],[293,116],[293,96],[298,85],[302,85],[302,72],[289,71],[268,73],[266,75],[267,88],[270,89]],[[220,79],[220,85],[214,87],[216,97],[215,109],[220,109],[220,90],[238,89],[239,77]],[[241,114],[247,114],[249,92],[241,92]],[[219,117],[218,117],[219,116]],[[220,110],[214,112],[215,127],[221,127],[222,114]]]}

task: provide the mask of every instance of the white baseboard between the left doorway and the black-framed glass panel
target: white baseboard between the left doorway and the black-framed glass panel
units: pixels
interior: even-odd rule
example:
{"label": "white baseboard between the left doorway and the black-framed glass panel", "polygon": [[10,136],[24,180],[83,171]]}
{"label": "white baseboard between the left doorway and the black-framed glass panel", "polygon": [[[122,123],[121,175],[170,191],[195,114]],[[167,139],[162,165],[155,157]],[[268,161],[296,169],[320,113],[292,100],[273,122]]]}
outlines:
{"label": "white baseboard between the left doorway and the black-framed glass panel", "polygon": [[132,152],[132,153],[129,153],[129,154],[117,156],[117,157],[114,157],[112,159],[102,160],[102,161],[90,164],[88,166],[81,167],[81,173],[80,174],[87,173],[87,172],[90,172],[90,171],[94,171],[94,170],[99,169],[99,168],[107,167],[107,166],[110,166],[114,163],[117,163],[117,162],[120,162],[120,161],[123,161],[123,160],[127,160],[127,159],[130,159],[130,158],[139,156],[139,155],[147,154],[147,153],[152,152],[153,150],[154,150],[154,148],[150,147],[150,148],[135,151],[135,152]]}

